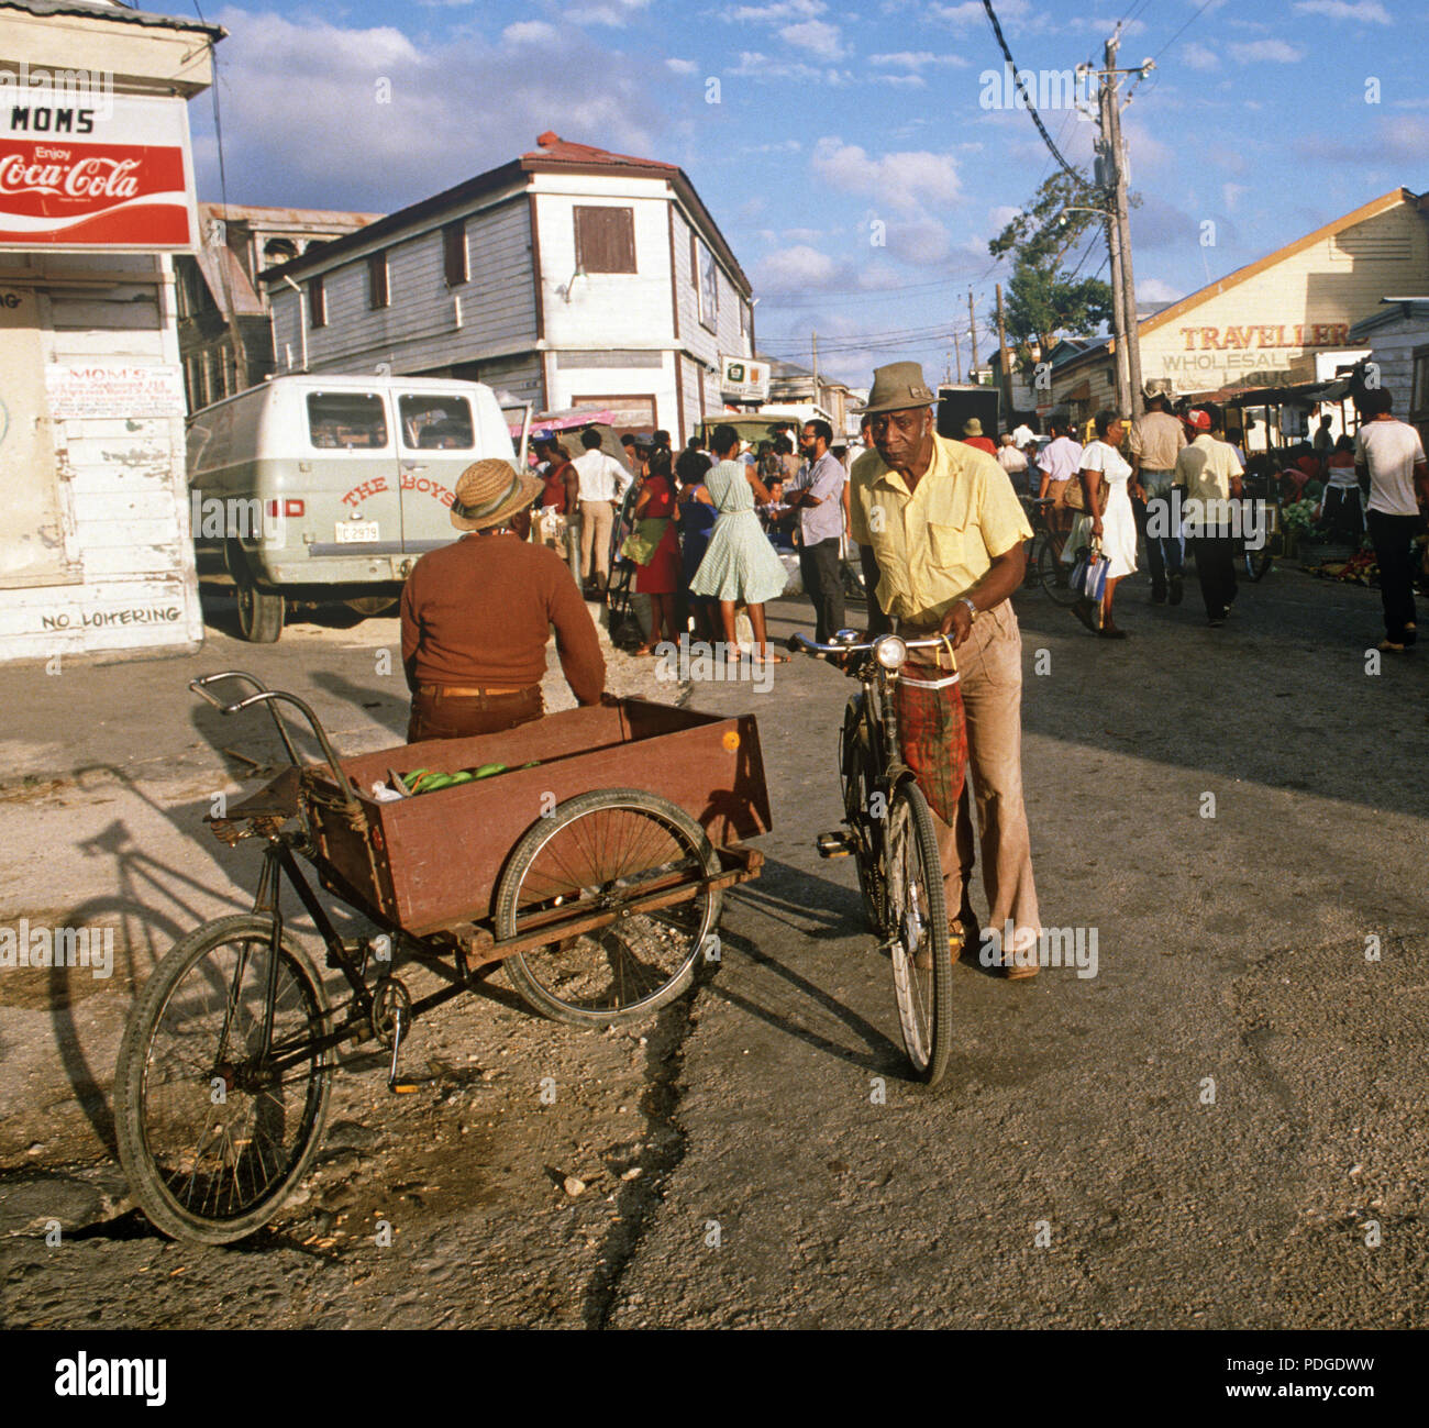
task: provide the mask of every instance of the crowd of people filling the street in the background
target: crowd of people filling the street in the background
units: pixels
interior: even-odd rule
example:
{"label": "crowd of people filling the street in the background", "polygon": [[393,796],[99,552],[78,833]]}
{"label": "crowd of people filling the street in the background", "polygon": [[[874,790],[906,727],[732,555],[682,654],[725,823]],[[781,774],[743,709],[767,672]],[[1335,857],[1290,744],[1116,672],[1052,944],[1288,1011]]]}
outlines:
{"label": "crowd of people filling the street in the background", "polygon": [[[1045,436],[1020,423],[995,439],[970,419],[957,445],[993,456],[1016,490],[1040,502],[1060,540],[1067,579],[1083,555],[1106,562],[1100,595],[1072,605],[1102,639],[1126,638],[1115,613],[1116,589],[1142,562],[1152,603],[1180,605],[1187,556],[1195,559],[1206,622],[1222,628],[1236,600],[1245,537],[1232,503],[1256,492],[1278,496],[1283,506],[1313,502],[1310,519],[1323,539],[1373,543],[1380,587],[1388,582],[1393,592],[1386,598],[1385,649],[1398,650],[1416,638],[1412,553],[1400,552],[1396,522],[1418,515],[1410,497],[1422,449],[1416,457],[1405,436],[1413,430],[1393,422],[1388,392],[1360,393],[1359,413],[1356,437],[1336,436],[1326,416],[1312,440],[1249,460],[1228,439],[1216,403],[1173,406],[1159,392],[1146,395],[1146,410],[1135,422],[1110,410],[1085,425],[1055,413]],[[1393,436],[1382,435],[1386,422]],[[576,457],[563,439],[539,435],[536,539],[566,555],[587,599],[603,598],[612,530],[633,487],[633,529],[622,552],[634,565],[632,589],[650,598],[652,610],[637,653],[677,642],[693,626],[702,640],[725,640],[730,660],[746,658],[735,639],[736,615],[746,609],[756,645],[747,658],[779,662],[765,638],[763,605],[786,587],[780,553],[797,553],[815,638],[826,642],[845,625],[845,560],[859,545],[850,523],[850,473],[870,447],[869,427],[866,415],[859,440],[843,442],[820,419],[775,423],[767,436],[749,442],[736,427],[720,426],[707,440],[693,437],[677,456],[667,432],[624,433],[624,465],[602,449],[594,430],[580,435]],[[865,587],[875,590],[875,553],[859,545],[857,557]],[[869,603],[869,626],[875,633],[892,628],[877,600]]]}

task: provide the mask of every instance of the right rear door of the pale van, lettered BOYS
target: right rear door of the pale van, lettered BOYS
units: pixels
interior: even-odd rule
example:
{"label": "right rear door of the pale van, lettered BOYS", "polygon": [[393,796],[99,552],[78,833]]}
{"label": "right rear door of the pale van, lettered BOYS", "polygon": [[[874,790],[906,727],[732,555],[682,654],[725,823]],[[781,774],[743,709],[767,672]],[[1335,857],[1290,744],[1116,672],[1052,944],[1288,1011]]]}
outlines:
{"label": "right rear door of the pale van, lettered BOYS", "polygon": [[472,400],[462,392],[393,392],[397,403],[402,549],[423,555],[457,537],[452,502],[462,472],[482,456]]}

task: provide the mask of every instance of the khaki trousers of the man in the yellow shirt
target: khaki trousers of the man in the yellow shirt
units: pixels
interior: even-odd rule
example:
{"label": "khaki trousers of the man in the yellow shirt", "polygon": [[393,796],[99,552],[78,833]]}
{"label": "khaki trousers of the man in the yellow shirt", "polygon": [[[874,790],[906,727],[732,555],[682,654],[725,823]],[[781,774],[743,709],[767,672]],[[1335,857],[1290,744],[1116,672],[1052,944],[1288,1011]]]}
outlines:
{"label": "khaki trousers of the man in the yellow shirt", "polygon": [[[1026,943],[1029,932],[1033,936],[1040,932],[1042,922],[1022,800],[1022,632],[1009,600],[977,616],[957,649],[957,672],[967,718],[967,783],[953,828],[933,813],[947,916],[952,921],[962,912],[966,922],[972,911],[967,893],[976,862],[972,816],[976,803],[987,895],[987,918],[982,925],[1000,938],[1010,919],[1015,935]],[[1035,942],[1032,956],[1036,956]]]}

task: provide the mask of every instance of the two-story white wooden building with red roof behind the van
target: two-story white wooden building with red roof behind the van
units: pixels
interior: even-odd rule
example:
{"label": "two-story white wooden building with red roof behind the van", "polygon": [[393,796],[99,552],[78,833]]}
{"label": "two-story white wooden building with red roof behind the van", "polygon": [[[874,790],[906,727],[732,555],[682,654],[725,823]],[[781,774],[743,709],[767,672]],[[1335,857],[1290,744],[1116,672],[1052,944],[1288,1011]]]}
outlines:
{"label": "two-story white wooden building with red roof behind the van", "polygon": [[484,382],[683,440],[755,353],[749,279],[674,164],[537,149],[263,274],[277,372]]}

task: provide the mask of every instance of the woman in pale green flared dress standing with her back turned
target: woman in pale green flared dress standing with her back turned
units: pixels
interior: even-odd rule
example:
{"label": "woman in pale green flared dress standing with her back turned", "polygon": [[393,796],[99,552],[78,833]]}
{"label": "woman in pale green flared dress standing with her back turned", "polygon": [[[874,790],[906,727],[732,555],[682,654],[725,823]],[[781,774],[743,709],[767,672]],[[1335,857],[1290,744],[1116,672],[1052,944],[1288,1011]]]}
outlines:
{"label": "woman in pale green flared dress standing with her back turned", "polygon": [[739,659],[735,608],[743,602],[755,630],[753,658],[783,665],[787,662],[783,655],[769,653],[765,602],[783,593],[789,576],[755,513],[755,497],[767,503],[769,490],[753,467],[735,459],[739,452],[739,433],[735,427],[716,426],[710,433],[710,450],[719,465],[704,477],[704,485],[719,519],[704,559],[690,582],[690,595],[719,600],[726,659]]}

